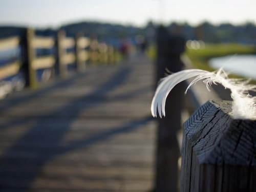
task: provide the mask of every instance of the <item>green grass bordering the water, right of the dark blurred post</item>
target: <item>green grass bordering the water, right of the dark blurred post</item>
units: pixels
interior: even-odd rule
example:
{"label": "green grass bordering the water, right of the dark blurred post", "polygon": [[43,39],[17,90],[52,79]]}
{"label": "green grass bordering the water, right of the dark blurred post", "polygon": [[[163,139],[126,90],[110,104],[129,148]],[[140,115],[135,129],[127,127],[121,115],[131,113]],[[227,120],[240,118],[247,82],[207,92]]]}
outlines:
{"label": "green grass bordering the water, right of the dark blurred post", "polygon": [[195,68],[212,71],[209,59],[234,54],[256,54],[256,48],[239,44],[211,44],[204,49],[186,49],[185,54],[190,58]]}

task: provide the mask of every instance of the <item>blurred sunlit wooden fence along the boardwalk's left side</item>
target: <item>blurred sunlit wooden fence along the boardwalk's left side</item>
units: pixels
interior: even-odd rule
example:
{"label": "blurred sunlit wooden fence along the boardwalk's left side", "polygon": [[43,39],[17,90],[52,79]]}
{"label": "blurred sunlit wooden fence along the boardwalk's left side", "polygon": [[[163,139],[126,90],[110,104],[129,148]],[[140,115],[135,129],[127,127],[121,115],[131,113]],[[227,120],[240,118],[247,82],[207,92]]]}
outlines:
{"label": "blurred sunlit wooden fence along the boardwalk's left side", "polygon": [[[88,62],[116,61],[113,46],[98,42],[97,39],[84,37],[80,33],[74,37],[67,37],[63,30],[58,31],[57,35],[39,36],[34,29],[27,29],[24,37],[0,39],[0,52],[11,49],[22,49],[22,51],[15,59],[2,61],[0,58],[0,97],[6,96],[15,89],[22,89],[24,84],[36,89],[51,77],[65,78],[71,71],[83,72]],[[38,55],[38,50],[43,50],[44,54]],[[10,80],[12,77],[17,79],[16,76],[19,77],[19,83]],[[6,86],[7,84],[9,86]]]}

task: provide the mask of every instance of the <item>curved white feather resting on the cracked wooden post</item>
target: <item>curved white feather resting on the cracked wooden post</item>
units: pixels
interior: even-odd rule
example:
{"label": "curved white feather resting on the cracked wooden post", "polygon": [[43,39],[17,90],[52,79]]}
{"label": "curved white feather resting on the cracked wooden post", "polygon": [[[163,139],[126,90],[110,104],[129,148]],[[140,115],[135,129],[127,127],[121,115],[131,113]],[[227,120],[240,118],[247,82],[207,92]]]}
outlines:
{"label": "curved white feather resting on the cracked wooden post", "polygon": [[222,68],[216,72],[200,69],[183,70],[162,78],[151,104],[151,113],[153,117],[157,117],[157,113],[160,118],[165,117],[165,102],[169,92],[172,91],[176,84],[192,77],[194,77],[194,79],[187,87],[185,93],[193,84],[200,80],[203,80],[208,91],[209,86],[212,84],[222,84],[222,86],[231,91],[231,98],[233,99],[231,115],[233,118],[256,118],[256,97],[252,97],[248,94],[248,91],[255,91],[256,86],[247,84],[248,81],[243,81],[241,79],[229,79]]}

